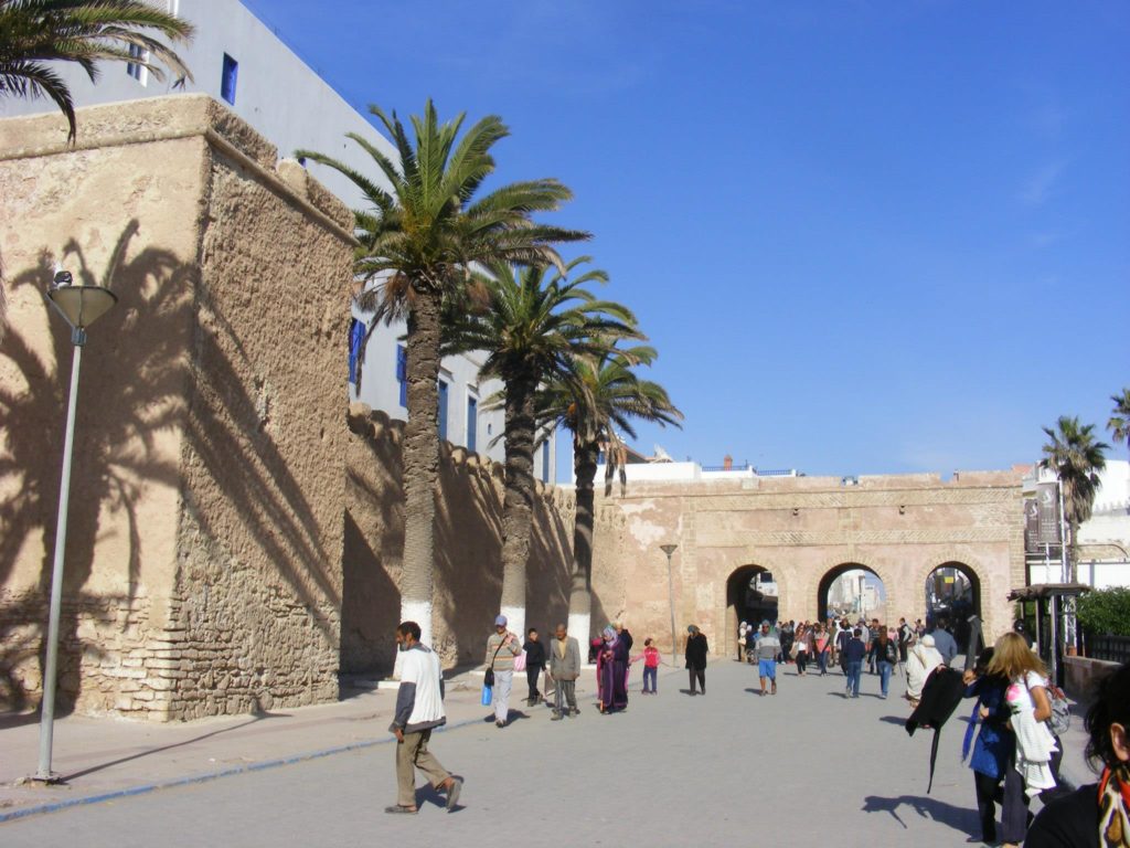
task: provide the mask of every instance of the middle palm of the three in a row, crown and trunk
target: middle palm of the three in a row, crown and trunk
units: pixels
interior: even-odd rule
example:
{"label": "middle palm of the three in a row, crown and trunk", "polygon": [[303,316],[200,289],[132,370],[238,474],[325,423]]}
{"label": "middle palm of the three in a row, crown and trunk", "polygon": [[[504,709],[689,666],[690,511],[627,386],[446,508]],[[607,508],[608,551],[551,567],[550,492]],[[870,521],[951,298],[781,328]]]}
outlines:
{"label": "middle palm of the three in a row, crown and trunk", "polygon": [[589,257],[574,259],[565,274],[547,280],[548,269],[495,263],[483,278],[487,305],[453,315],[452,353],[485,351],[481,373],[503,381],[506,449],[503,504],[502,612],[516,633],[525,629],[525,568],[530,551],[533,505],[534,407],[538,387],[567,380],[577,356],[594,356],[612,339],[638,338],[635,315],[611,301],[597,300],[585,286],[607,283],[608,275],[590,269],[567,279]]}

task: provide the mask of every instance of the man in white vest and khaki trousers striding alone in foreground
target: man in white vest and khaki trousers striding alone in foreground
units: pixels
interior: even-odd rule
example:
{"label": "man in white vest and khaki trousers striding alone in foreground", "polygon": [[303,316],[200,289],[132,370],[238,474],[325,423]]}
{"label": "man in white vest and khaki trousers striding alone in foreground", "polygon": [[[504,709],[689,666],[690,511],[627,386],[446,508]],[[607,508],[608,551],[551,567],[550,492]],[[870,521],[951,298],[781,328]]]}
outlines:
{"label": "man in white vest and khaki trousers striding alone in foreground", "polygon": [[435,789],[447,793],[447,812],[459,803],[463,781],[447,773],[427,750],[432,729],[446,724],[443,711],[443,672],[440,658],[420,643],[420,626],[406,621],[397,628],[397,647],[403,654],[397,712],[389,729],[397,737],[397,803],[385,813],[415,813],[416,769],[427,776]]}

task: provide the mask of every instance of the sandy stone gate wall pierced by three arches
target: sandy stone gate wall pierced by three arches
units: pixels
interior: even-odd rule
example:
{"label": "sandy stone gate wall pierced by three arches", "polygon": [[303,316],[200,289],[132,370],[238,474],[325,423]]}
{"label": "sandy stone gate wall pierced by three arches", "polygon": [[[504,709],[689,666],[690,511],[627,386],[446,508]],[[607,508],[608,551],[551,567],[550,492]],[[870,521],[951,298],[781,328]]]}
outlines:
{"label": "sandy stone gate wall pierced by three arches", "polygon": [[[1024,522],[1019,475],[1011,471],[840,478],[797,477],[709,483],[629,483],[598,500],[609,516],[598,529],[623,544],[619,568],[594,572],[606,609],[624,611],[637,635],[670,643],[664,542],[673,559],[679,632],[697,623],[715,650],[736,650],[732,587],[771,571],[785,618],[814,618],[820,595],[849,566],[878,574],[887,590],[880,614],[924,614],[925,580],[956,565],[980,597],[985,634],[1010,624],[1008,590],[1023,586]],[[731,582],[732,581],[732,582]]]}

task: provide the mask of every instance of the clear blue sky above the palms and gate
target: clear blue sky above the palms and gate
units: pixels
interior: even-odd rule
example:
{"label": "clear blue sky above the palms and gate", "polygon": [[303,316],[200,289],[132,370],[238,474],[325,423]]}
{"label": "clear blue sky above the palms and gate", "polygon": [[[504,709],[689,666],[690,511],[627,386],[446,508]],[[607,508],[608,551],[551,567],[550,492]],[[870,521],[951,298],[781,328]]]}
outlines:
{"label": "clear blue sky above the palms and gate", "polygon": [[[1130,386],[1130,3],[251,8],[359,109],[496,113],[686,414],[677,459],[1038,457]],[[1125,457],[1124,449],[1114,456]]]}

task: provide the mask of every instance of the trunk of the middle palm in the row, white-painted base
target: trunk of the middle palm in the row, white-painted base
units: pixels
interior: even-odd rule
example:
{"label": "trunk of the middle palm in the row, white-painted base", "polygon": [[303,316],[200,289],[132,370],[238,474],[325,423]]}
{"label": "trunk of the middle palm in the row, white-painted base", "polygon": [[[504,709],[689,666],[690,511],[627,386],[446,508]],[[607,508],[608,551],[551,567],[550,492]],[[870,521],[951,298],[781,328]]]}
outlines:
{"label": "trunk of the middle palm in the row, white-painted base", "polygon": [[506,494],[502,512],[502,614],[525,635],[525,568],[533,521],[533,389],[506,383]]}

